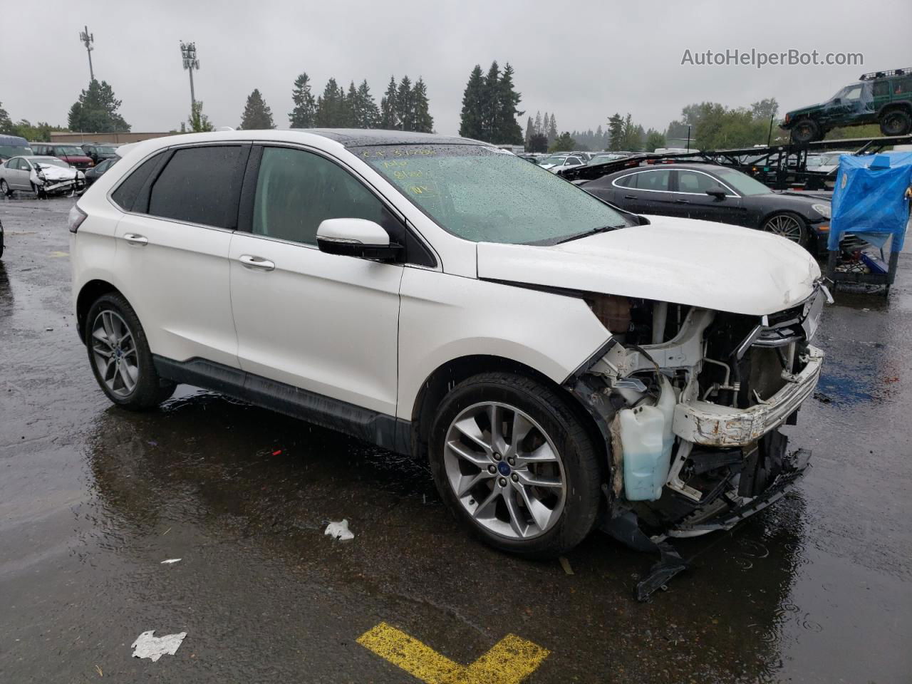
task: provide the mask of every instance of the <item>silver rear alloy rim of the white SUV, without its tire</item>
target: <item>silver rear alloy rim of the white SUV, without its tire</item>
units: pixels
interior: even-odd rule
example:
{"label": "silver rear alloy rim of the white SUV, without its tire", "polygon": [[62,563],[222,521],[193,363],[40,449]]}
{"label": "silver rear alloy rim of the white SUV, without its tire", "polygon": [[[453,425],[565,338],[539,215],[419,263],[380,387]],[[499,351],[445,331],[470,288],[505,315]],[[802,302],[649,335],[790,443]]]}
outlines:
{"label": "silver rear alloy rim of the white SUV, without its tire", "polygon": [[92,358],[98,377],[118,397],[129,397],[140,378],[139,354],[130,326],[116,312],[105,309],[92,324]]}

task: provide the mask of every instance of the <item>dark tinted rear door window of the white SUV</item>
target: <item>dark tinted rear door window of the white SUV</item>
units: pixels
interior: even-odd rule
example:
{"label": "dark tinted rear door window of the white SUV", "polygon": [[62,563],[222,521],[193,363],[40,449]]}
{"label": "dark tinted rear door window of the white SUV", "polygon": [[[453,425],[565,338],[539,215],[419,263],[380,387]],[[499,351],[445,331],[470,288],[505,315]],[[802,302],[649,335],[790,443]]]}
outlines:
{"label": "dark tinted rear door window of the white SUV", "polygon": [[149,213],[166,219],[234,228],[240,196],[240,145],[177,150],[154,182]]}

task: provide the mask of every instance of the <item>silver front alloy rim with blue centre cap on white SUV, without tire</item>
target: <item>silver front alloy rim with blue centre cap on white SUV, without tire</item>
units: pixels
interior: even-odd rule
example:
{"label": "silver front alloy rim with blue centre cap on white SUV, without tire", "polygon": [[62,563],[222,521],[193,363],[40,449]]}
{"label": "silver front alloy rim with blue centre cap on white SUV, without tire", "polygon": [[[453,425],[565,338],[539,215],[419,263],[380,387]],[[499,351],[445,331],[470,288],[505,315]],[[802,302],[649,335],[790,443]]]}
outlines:
{"label": "silver front alloy rim with blue centre cap on white SUV, without tire", "polygon": [[554,440],[523,410],[473,404],[452,420],[443,448],[452,491],[483,528],[526,540],[560,520],[564,463]]}

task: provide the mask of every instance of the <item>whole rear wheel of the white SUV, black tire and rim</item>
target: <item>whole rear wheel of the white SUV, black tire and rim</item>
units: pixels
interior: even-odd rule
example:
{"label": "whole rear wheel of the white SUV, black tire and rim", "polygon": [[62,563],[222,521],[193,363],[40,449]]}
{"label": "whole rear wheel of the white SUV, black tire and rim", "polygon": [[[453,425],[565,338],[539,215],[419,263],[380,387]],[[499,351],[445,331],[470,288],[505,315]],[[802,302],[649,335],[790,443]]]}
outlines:
{"label": "whole rear wheel of the white SUV, black tire and rim", "polygon": [[109,293],[95,300],[84,341],[98,387],[118,406],[154,409],[171,397],[176,386],[155,371],[146,333],[123,296]]}

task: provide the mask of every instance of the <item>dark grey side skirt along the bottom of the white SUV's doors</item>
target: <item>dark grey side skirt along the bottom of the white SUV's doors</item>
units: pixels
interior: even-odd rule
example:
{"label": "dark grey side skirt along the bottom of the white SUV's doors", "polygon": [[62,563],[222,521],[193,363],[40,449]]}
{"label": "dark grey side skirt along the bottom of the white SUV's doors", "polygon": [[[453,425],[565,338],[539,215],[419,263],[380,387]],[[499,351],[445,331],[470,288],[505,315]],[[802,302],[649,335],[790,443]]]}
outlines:
{"label": "dark grey side skirt along the bottom of the white SUV's doors", "polygon": [[389,451],[406,455],[411,452],[410,420],[363,409],[347,401],[332,399],[203,358],[174,361],[153,354],[152,361],[162,378],[221,392],[264,409],[272,409],[286,416],[369,441]]}

